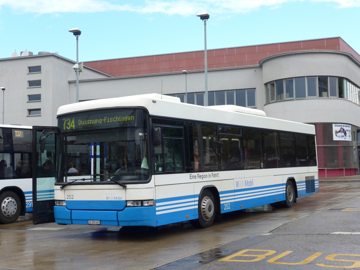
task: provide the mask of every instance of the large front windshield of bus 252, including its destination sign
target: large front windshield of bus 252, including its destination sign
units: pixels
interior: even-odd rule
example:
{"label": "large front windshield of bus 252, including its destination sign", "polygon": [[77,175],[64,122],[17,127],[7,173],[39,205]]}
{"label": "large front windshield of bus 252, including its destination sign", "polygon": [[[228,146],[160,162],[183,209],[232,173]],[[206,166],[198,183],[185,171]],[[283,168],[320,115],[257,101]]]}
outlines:
{"label": "large front windshield of bus 252, including its destination sign", "polygon": [[[57,182],[136,183],[149,180],[146,113],[117,109],[58,119]],[[112,181],[114,180],[114,181]]]}

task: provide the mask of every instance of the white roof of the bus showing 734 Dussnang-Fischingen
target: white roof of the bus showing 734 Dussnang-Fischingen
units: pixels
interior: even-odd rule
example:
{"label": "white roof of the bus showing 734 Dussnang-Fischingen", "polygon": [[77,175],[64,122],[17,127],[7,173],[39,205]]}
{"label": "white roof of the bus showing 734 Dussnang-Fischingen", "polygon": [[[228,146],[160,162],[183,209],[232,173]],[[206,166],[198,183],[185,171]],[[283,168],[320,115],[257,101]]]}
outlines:
{"label": "white roof of the bus showing 734 Dussnang-Fischingen", "polygon": [[150,115],[184,120],[259,127],[269,130],[292,131],[314,134],[315,126],[288,120],[266,117],[265,112],[235,105],[200,106],[182,103],[179,98],[161,94],[124,96],[121,98],[96,99],[59,107],[57,116],[94,109],[143,107]]}

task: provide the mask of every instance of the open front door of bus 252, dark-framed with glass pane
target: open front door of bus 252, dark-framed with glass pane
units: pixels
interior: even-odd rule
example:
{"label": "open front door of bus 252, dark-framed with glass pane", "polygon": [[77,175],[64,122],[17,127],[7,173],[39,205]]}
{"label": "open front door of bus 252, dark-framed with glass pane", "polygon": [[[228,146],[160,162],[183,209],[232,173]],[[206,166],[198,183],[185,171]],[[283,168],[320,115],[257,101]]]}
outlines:
{"label": "open front door of bus 252, dark-framed with glass pane", "polygon": [[32,222],[33,224],[54,222],[58,128],[33,126],[32,132]]}

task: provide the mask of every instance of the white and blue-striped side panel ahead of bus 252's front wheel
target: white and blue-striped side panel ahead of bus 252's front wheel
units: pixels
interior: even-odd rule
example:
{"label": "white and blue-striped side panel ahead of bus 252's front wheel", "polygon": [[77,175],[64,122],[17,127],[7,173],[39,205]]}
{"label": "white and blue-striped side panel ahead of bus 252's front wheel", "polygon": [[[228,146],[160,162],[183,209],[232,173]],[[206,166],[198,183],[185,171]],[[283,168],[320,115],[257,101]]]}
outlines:
{"label": "white and blue-striped side panel ahead of bus 252's front wheel", "polygon": [[[171,184],[171,176],[167,175]],[[194,196],[194,184],[156,186],[157,226],[195,219],[198,197]]]}

